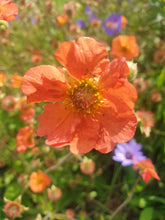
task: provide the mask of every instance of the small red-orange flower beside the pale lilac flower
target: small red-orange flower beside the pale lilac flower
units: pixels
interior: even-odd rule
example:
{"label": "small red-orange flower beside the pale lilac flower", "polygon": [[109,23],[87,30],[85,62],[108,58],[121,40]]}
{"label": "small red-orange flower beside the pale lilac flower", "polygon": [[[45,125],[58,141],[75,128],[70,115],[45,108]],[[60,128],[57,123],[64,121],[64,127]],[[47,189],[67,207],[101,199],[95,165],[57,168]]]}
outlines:
{"label": "small red-orange flower beside the pale lilac flower", "polygon": [[145,159],[138,162],[135,160],[135,158],[133,158],[133,161],[136,163],[136,165],[133,166],[133,169],[139,169],[144,182],[148,183],[152,177],[160,180],[160,177],[155,171],[155,167],[150,159]]}

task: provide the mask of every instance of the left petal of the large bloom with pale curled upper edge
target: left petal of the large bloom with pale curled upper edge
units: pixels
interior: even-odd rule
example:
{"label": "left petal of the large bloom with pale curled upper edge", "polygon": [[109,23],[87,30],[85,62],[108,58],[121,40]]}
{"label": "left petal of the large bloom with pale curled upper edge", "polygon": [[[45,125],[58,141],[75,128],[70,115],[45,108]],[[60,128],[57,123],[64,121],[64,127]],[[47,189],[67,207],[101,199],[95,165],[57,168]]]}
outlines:
{"label": "left petal of the large bloom with pale curled upper edge", "polygon": [[22,80],[27,102],[54,102],[65,98],[67,85],[62,72],[55,66],[41,65],[29,69]]}

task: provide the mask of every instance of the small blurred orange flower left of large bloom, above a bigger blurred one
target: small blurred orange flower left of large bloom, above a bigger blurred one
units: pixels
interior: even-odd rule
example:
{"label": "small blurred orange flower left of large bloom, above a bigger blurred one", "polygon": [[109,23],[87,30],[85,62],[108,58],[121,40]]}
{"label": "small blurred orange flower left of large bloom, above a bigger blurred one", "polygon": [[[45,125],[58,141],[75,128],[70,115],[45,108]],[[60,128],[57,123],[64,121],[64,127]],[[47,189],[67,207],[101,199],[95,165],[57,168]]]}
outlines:
{"label": "small blurred orange flower left of large bloom, above a bigger blurred one", "polygon": [[35,114],[34,103],[27,104],[27,98],[22,97],[18,103],[19,109],[21,111],[20,118],[24,122],[28,122],[33,118]]}

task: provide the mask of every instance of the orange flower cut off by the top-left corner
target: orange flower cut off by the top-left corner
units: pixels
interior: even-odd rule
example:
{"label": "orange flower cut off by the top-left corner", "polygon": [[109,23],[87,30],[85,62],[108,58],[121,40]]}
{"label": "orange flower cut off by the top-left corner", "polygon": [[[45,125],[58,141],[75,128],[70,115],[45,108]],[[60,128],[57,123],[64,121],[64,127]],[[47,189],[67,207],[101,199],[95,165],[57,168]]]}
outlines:
{"label": "orange flower cut off by the top-left corner", "polygon": [[18,14],[18,7],[11,0],[0,1],[0,20],[13,21]]}

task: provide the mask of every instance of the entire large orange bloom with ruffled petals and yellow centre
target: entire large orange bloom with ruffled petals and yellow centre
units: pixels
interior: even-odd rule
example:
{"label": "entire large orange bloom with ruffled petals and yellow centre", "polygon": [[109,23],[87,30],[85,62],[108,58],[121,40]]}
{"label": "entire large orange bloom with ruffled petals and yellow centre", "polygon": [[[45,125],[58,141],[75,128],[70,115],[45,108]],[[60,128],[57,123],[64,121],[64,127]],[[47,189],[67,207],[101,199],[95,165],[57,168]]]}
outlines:
{"label": "entire large orange bloom with ruffled petals and yellow centre", "polygon": [[52,147],[70,145],[74,154],[93,148],[107,153],[116,142],[130,140],[137,119],[132,111],[137,98],[127,81],[125,59],[108,59],[103,45],[81,37],[64,42],[55,58],[65,67],[41,65],[28,70],[22,90],[30,102],[52,102],[39,116],[39,136]]}

